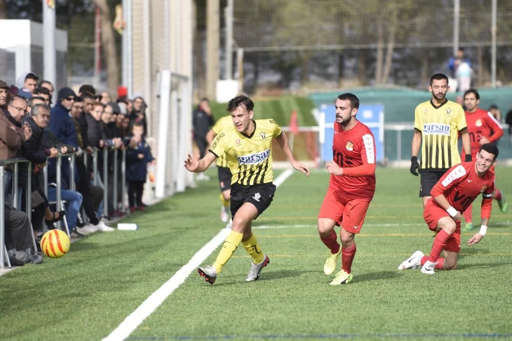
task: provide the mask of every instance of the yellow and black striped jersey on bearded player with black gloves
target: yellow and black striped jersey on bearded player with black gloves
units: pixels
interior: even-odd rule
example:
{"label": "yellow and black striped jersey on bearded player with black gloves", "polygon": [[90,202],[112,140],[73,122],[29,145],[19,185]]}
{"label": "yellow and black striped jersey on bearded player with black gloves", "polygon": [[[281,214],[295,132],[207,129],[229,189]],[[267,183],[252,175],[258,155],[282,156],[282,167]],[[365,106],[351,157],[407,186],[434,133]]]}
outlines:
{"label": "yellow and black striped jersey on bearded player with black gloves", "polygon": [[414,129],[422,134],[421,169],[446,171],[460,164],[457,139],[464,128],[466,118],[460,104],[448,100],[440,106],[432,100],[419,104],[414,111]]}

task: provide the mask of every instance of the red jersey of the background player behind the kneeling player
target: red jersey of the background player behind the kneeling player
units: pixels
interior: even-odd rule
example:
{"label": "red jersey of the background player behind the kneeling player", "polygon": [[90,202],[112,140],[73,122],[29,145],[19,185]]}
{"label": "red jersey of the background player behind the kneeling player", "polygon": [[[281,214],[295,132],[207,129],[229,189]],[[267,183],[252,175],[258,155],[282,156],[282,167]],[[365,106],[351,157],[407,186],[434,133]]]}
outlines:
{"label": "red jersey of the background player behind the kneeling player", "polygon": [[[471,155],[476,160],[476,154],[480,150],[480,140],[484,137],[489,142],[495,142],[503,135],[503,128],[494,116],[487,110],[478,108],[475,112],[464,111],[466,116],[467,132],[470,134]],[[464,156],[462,148],[462,156]]]}

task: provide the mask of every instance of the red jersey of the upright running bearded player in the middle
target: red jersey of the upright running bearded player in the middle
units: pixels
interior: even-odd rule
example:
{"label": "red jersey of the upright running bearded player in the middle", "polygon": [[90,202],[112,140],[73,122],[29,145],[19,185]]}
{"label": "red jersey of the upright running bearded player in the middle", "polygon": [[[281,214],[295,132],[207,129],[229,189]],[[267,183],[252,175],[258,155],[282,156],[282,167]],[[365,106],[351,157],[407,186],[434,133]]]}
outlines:
{"label": "red jersey of the upright running bearded player in the middle", "polygon": [[343,175],[331,174],[329,187],[352,199],[373,198],[375,173],[365,176],[351,176],[350,168],[375,165],[375,139],[366,125],[357,121],[350,130],[334,122],[332,160],[344,168]]}

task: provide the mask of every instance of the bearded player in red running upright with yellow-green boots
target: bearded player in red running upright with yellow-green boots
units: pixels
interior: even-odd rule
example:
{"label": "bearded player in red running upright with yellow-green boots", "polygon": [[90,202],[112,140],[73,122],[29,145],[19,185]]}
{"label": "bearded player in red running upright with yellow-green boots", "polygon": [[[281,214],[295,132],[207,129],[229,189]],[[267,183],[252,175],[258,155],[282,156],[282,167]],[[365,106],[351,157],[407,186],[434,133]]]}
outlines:
{"label": "bearded player in red running upright with yellow-green boots", "polygon": [[[356,119],[359,99],[342,94],[336,99],[336,122],[332,145],[333,160],[327,164],[331,173],[329,188],[318,213],[318,233],[330,252],[324,264],[326,275],[336,268],[342,254],[342,269],[331,285],[352,281],[354,237],[361,231],[366,211],[375,192],[375,141],[370,129]],[[337,242],[334,226],[342,226]]]}

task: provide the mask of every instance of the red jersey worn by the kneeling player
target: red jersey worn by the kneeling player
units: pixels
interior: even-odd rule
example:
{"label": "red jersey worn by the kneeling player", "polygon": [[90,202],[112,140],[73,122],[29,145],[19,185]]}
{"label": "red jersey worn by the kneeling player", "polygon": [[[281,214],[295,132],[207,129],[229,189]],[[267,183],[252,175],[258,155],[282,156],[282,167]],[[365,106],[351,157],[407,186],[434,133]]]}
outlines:
{"label": "red jersey worn by the kneeling player", "polygon": [[464,162],[450,168],[437,181],[430,194],[433,203],[440,207],[434,197],[444,195],[451,206],[464,212],[468,206],[482,193],[482,218],[489,218],[493,207],[495,175],[488,170],[479,177],[475,170],[475,161]]}

